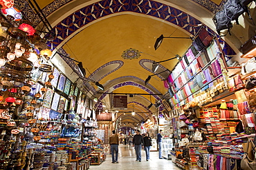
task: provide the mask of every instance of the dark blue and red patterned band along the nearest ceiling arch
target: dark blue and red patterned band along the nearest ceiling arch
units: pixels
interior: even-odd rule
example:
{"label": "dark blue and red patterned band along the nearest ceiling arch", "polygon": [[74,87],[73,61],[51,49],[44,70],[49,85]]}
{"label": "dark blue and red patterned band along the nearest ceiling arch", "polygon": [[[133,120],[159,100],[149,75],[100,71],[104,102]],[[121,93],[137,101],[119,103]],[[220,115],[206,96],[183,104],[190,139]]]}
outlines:
{"label": "dark blue and red patterned band along the nearest ceiling arch", "polygon": [[[26,4],[26,2],[24,2],[24,4]],[[33,10],[31,10],[28,5],[24,4],[21,5],[21,8],[23,9],[24,14],[26,14],[26,18],[30,21],[33,20],[33,23],[35,24],[39,23],[39,19],[35,19],[37,16],[33,13]],[[156,1],[104,0],[73,12],[73,14],[55,25],[53,29],[57,34],[57,37],[53,41],[48,41],[48,44],[55,49],[64,40],[67,41],[67,39],[71,39],[73,36],[72,34],[77,34],[78,30],[82,31],[86,24],[102,17],[107,17],[109,14],[116,14],[120,12],[136,12],[138,14],[145,14],[158,19],[163,19],[164,21],[178,25],[180,28],[190,32],[192,35],[195,35],[196,32],[198,32],[199,27],[197,25],[202,24],[201,21],[195,19],[189,14]],[[192,27],[193,29],[191,29]],[[207,26],[205,27],[207,28]],[[210,28],[207,28],[207,30],[212,34],[215,34],[215,32]],[[226,55],[235,55],[234,50],[232,50],[227,43],[225,43],[223,51]]]}

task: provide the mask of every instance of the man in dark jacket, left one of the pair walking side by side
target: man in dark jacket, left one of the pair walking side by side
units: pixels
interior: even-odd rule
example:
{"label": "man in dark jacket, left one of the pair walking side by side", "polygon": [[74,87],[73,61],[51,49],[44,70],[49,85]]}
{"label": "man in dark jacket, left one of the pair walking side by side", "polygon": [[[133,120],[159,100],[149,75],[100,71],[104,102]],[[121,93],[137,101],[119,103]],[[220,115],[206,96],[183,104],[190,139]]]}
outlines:
{"label": "man in dark jacket, left one of the pair walking side by side", "polygon": [[135,152],[136,152],[136,161],[141,162],[141,148],[143,147],[143,136],[140,135],[140,131],[136,130],[136,135],[134,135],[134,138],[132,139],[132,144],[134,146]]}

